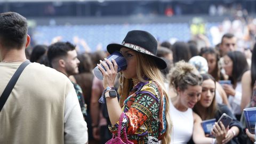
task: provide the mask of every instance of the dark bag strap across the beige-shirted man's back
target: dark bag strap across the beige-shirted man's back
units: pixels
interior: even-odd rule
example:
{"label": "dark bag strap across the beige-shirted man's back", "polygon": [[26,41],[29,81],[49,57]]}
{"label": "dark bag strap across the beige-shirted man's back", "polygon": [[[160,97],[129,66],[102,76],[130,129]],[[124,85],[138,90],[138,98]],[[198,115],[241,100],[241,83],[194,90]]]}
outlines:
{"label": "dark bag strap across the beige-shirted man's back", "polygon": [[22,62],[21,65],[19,66],[19,68],[13,74],[13,76],[10,79],[7,86],[5,87],[3,93],[0,97],[0,112],[1,112],[2,108],[4,107],[4,104],[5,104],[6,100],[8,99],[10,93],[12,92],[14,85],[18,81],[18,78],[20,77],[22,71],[28,66],[29,63],[30,63],[29,60]]}

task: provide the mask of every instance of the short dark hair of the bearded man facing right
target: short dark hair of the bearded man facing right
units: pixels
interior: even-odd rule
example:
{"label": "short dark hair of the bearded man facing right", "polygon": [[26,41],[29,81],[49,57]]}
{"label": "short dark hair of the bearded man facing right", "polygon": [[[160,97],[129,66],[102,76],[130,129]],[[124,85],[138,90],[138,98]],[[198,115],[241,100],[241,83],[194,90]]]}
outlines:
{"label": "short dark hair of the bearded man facing right", "polygon": [[69,42],[57,42],[49,46],[47,57],[50,64],[52,60],[59,57],[65,57],[68,51],[73,51],[76,49],[76,46]]}

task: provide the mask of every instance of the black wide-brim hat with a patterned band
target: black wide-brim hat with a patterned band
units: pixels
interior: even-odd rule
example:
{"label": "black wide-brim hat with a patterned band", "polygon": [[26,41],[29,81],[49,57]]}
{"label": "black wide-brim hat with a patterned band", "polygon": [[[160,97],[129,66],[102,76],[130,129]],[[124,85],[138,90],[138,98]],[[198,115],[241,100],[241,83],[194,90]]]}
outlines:
{"label": "black wide-brim hat with a patterned band", "polygon": [[159,69],[165,69],[167,66],[163,59],[156,56],[157,41],[155,37],[149,34],[147,31],[129,31],[125,36],[122,44],[109,44],[107,46],[107,51],[112,54],[115,51],[120,51],[122,47],[126,47],[153,58]]}

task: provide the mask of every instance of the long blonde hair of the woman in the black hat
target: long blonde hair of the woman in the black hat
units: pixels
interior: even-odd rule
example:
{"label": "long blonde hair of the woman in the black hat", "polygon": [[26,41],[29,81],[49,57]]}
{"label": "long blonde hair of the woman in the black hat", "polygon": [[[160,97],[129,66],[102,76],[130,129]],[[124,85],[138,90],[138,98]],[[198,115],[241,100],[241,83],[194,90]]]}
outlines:
{"label": "long blonde hair of the woman in the black hat", "polygon": [[[162,143],[168,144],[171,142],[171,128],[172,122],[171,117],[169,114],[169,98],[164,86],[164,76],[157,67],[157,63],[150,57],[146,57],[141,53],[135,54],[137,57],[137,78],[140,82],[146,82],[143,79],[144,76],[148,77],[150,80],[156,82],[159,87],[162,88],[165,100],[166,100],[166,109],[165,109],[165,117],[166,117],[166,132],[162,139]],[[129,96],[130,90],[133,87],[132,79],[124,78],[123,76],[120,77],[120,84],[121,86],[118,89],[118,93],[121,95],[120,98],[120,105],[123,107],[124,100]]]}

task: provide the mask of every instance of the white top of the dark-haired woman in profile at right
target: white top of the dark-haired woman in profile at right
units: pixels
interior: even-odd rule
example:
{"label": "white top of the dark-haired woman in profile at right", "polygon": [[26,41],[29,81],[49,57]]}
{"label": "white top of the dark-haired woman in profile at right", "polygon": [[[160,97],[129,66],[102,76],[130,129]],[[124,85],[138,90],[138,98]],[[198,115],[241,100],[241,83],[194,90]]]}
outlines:
{"label": "white top of the dark-haired woman in profile at right", "polygon": [[231,106],[231,111],[233,112],[233,114],[237,115],[237,114],[242,114],[242,111],[240,108],[241,100],[242,100],[242,84],[241,84],[241,82],[237,83],[235,91],[236,91],[236,94],[234,97],[229,95],[228,102]]}

